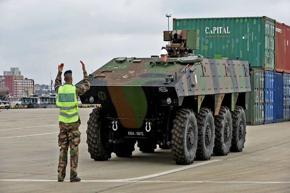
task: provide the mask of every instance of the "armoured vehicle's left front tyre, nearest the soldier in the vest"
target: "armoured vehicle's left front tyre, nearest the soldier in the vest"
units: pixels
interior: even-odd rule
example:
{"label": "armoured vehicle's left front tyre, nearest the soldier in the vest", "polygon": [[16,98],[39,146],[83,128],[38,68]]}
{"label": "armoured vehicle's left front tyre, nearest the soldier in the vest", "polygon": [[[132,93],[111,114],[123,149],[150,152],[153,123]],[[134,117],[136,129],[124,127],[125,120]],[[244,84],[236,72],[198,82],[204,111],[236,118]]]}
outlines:
{"label": "armoured vehicle's left front tyre, nearest the soldier in the vest", "polygon": [[104,161],[111,158],[113,148],[108,143],[108,132],[103,109],[101,107],[93,109],[86,131],[88,151],[92,159]]}

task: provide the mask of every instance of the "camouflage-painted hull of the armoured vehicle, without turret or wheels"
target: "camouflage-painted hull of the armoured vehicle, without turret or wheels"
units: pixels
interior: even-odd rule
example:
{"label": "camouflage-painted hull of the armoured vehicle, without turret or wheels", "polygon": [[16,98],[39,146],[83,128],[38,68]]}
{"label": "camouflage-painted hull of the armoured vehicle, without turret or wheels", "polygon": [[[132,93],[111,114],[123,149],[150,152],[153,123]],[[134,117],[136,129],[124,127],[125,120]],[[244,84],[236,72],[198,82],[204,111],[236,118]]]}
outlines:
{"label": "camouflage-painted hull of the armoured vehicle, without turret or wheels", "polygon": [[[159,61],[157,58],[112,59],[89,76],[91,89],[80,96],[82,103],[90,104],[89,98],[93,96],[93,103],[101,104],[109,122],[118,119],[124,128],[135,129],[145,128],[146,120],[158,122],[156,128],[165,127],[160,117],[170,106],[191,107],[196,113],[200,107],[207,106],[214,115],[222,103],[231,110],[237,103],[247,108],[251,90],[247,61],[200,55],[168,58],[168,65],[156,64]],[[169,64],[170,61],[174,64]],[[174,80],[166,84],[169,74]],[[172,99],[170,105],[167,98]]]}

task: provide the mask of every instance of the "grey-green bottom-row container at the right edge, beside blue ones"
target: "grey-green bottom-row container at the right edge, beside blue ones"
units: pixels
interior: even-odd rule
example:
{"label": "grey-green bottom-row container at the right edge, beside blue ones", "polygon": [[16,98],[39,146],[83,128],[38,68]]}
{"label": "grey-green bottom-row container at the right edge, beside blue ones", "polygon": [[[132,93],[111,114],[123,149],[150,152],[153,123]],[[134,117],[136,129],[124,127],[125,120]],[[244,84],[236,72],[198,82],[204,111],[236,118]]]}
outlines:
{"label": "grey-green bottom-row container at the right edge, beside blue ones", "polygon": [[283,74],[284,100],[283,121],[290,121],[290,74]]}

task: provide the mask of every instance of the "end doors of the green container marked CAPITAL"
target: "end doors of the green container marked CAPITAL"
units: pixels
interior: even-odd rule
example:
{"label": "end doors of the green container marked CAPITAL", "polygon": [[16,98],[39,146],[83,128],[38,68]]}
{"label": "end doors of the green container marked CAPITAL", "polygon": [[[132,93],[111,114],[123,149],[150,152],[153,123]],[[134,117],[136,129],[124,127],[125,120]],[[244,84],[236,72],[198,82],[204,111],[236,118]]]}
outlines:
{"label": "end doors of the green container marked CAPITAL", "polygon": [[275,20],[265,19],[265,69],[274,70],[275,68]]}

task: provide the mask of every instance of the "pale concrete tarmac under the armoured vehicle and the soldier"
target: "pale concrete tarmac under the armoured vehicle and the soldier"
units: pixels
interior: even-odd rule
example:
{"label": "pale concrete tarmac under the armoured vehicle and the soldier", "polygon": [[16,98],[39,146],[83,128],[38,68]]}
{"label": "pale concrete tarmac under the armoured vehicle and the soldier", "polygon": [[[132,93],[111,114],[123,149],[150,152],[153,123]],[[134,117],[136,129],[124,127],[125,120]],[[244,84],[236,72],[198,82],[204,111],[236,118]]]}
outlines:
{"label": "pale concrete tarmac under the armoured vehicle and the soldier", "polygon": [[90,158],[82,121],[78,176],[57,182],[59,109],[0,112],[0,192],[290,192],[290,122],[247,126],[242,152],[176,165],[171,150],[108,161]]}

